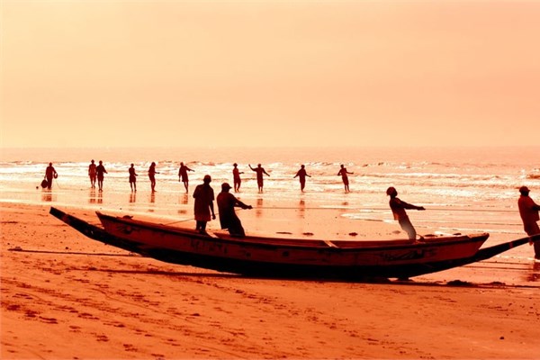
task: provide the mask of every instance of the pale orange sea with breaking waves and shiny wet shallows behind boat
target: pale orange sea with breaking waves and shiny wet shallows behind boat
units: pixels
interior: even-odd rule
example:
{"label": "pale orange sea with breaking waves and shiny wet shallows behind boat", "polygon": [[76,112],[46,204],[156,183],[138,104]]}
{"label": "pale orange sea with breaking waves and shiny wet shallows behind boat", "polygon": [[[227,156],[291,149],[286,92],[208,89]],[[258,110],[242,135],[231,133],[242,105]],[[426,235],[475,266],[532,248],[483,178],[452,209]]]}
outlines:
{"label": "pale orange sea with breaking waves and shiny wet shallows behind boat", "polygon": [[[393,223],[385,194],[398,189],[401,200],[427,211],[410,211],[420,234],[490,232],[486,245],[524,237],[518,214],[518,187],[527,184],[540,202],[540,147],[528,148],[4,148],[0,156],[0,202],[46,203],[59,207],[144,213],[172,221],[193,218],[192,193],[203,175],[211,175],[217,194],[232,184],[237,162],[242,186],[237,196],[254,205],[266,226],[295,229],[298,211],[320,211],[332,228],[335,219],[351,223]],[[90,189],[90,160],[103,160],[108,171],[103,192]],[[150,192],[148,166],[157,163],[157,192]],[[191,167],[190,189],[178,181],[180,162]],[[45,167],[53,163],[58,179],[52,190],[39,187]],[[138,191],[131,193],[130,163]],[[262,164],[265,191],[258,193],[248,164]],[[301,165],[311,177],[305,193],[298,178]],[[345,193],[340,164],[349,172]],[[275,211],[264,211],[274,209]],[[326,216],[325,214],[328,214]],[[270,225],[268,225],[270,224]],[[396,225],[396,229],[399,227]],[[275,232],[275,229],[258,229]],[[249,229],[247,229],[249,231]],[[531,261],[532,247],[512,250],[512,259]]]}

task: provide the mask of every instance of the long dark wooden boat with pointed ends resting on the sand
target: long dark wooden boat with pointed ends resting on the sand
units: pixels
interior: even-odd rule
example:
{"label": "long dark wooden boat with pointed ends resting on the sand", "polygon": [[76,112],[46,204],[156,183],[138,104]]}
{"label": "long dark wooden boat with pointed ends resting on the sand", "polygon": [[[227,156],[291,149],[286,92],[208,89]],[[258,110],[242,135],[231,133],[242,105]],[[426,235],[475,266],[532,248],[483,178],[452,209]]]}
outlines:
{"label": "long dark wooden boat with pointed ends resting on the sand", "polygon": [[[530,239],[480,249],[488,233],[426,238],[420,242],[233,238],[225,232],[202,235],[193,229],[96,212],[101,228],[56,208],[51,208],[50,213],[89,238],[142,256],[263,277],[408,278],[481,261]],[[540,239],[540,235],[535,238]]]}

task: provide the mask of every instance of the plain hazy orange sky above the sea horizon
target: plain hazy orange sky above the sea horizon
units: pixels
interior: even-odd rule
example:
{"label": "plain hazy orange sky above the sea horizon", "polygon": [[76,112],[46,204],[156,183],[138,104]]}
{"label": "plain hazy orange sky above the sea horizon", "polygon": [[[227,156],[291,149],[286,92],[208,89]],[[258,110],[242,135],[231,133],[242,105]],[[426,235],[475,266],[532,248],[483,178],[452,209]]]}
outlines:
{"label": "plain hazy orange sky above the sea horizon", "polygon": [[540,1],[0,1],[2,147],[538,145]]}

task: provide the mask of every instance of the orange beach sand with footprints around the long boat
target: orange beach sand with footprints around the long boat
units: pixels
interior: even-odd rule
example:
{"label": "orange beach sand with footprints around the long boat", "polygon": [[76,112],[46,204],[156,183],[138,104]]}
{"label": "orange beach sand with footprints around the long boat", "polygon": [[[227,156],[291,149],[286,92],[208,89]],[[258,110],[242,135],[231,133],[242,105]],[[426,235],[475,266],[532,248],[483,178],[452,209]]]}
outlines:
{"label": "orange beach sand with footprints around the long boat", "polygon": [[[69,211],[97,222],[93,211]],[[255,210],[242,215],[246,229],[279,229],[260,225]],[[379,284],[267,280],[105,246],[49,215],[48,206],[2,204],[0,220],[3,359],[540,354],[538,286],[471,284],[468,272],[490,279],[491,270],[478,266],[441,273],[461,286],[429,277]],[[396,229],[371,222],[363,231],[386,236]],[[330,231],[317,221],[310,230]]]}

